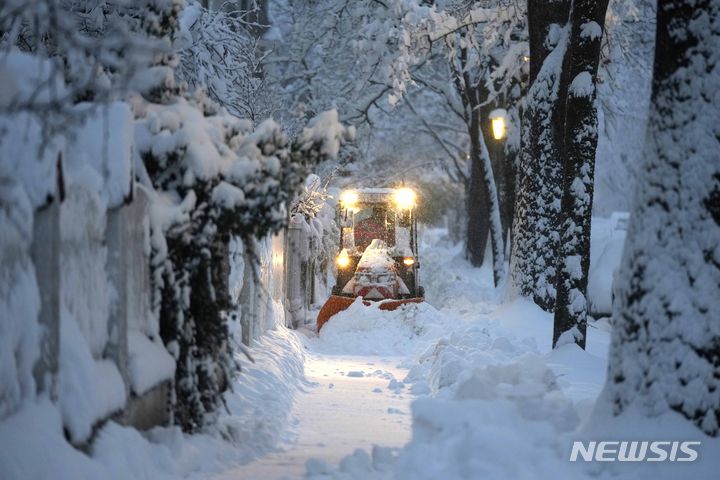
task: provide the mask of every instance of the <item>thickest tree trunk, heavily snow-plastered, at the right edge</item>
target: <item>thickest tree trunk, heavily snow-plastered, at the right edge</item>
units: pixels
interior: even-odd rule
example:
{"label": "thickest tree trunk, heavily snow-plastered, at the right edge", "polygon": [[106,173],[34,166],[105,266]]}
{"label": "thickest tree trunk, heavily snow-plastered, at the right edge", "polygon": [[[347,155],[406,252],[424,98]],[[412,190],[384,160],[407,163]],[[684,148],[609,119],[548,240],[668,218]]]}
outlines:
{"label": "thickest tree trunk, heavily snow-plastered, at the right edge", "polygon": [[660,0],[604,399],[720,434],[720,1]]}

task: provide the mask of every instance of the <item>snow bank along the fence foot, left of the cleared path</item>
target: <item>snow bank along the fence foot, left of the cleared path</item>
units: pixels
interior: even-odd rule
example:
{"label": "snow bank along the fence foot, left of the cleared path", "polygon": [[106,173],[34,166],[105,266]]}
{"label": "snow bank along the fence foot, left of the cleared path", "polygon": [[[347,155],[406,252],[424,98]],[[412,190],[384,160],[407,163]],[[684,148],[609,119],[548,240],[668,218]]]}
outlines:
{"label": "snow bank along the fence foot, left of the cleared path", "polygon": [[[73,327],[73,322],[64,325],[71,327],[64,341],[78,348],[71,357],[89,357],[77,326]],[[66,441],[65,412],[61,413],[46,399],[26,402],[0,422],[0,478],[205,479],[244,464],[277,448],[279,443],[292,440],[287,427],[294,395],[305,385],[303,350],[297,337],[283,327],[263,336],[257,347],[251,349],[256,363],[244,369],[234,382],[233,391],[226,395],[230,413],[221,417],[216,430],[207,433],[186,435],[177,427],[169,427],[140,434],[109,422],[97,432],[86,454]],[[82,370],[75,370],[75,377],[65,380],[66,387],[71,381],[80,382],[95,375],[109,377],[105,378],[103,389],[108,388],[109,380],[122,388],[117,371],[106,368],[111,365],[109,362],[97,362],[95,370],[89,371],[85,367],[92,365],[91,358],[82,362],[73,358],[66,360],[74,361]],[[73,391],[78,393],[76,403],[66,407],[74,410],[96,409],[103,404],[100,397],[112,393],[92,389],[81,392],[81,386],[73,387]],[[81,429],[85,425],[78,422],[71,427]],[[40,462],[38,451],[43,452]]]}

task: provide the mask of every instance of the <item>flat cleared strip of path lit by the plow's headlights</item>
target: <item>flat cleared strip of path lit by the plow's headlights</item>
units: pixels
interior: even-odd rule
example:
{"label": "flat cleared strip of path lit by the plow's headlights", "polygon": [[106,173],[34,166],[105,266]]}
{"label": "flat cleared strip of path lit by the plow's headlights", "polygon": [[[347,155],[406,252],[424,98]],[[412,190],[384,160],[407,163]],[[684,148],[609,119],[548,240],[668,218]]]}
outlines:
{"label": "flat cleared strip of path lit by the plow's headlights", "polygon": [[388,388],[393,379],[407,374],[398,367],[402,357],[324,354],[313,351],[318,339],[305,343],[310,350],[305,377],[312,386],[295,398],[296,440],[281,446],[285,451],[215,478],[302,477],[309,458],[337,463],[356,448],[402,447],[410,440],[411,395],[404,388]]}

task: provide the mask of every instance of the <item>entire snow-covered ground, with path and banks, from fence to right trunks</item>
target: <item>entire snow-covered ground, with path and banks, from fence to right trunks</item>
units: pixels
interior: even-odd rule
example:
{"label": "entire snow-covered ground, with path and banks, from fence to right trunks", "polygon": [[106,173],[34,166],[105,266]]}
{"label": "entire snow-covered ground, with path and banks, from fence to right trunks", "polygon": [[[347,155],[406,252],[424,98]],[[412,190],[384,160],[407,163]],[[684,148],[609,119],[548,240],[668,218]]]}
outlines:
{"label": "entire snow-covered ground, with path and banks, from fence to right trunks", "polygon": [[[677,415],[608,420],[596,408],[605,320],[590,325],[587,351],[552,351],[551,315],[505,301],[442,231],[424,240],[427,303],[356,302],[319,337],[268,332],[214,431],[141,436],[110,423],[86,455],[40,401],[0,424],[0,478],[717,478],[720,442]],[[573,440],[613,439],[703,445],[692,464],[568,461]]]}

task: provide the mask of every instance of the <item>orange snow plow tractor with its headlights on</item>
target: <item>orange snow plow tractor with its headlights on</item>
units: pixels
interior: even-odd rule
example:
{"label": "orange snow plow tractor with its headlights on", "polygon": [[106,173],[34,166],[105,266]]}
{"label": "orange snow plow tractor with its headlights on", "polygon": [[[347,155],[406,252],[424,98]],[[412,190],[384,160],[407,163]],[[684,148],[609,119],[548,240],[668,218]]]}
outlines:
{"label": "orange snow plow tractor with its headlights on", "polygon": [[358,297],[366,305],[379,302],[382,310],[424,300],[418,278],[416,201],[407,187],[342,193],[337,208],[337,281],[318,313],[318,332]]}

